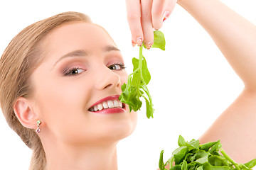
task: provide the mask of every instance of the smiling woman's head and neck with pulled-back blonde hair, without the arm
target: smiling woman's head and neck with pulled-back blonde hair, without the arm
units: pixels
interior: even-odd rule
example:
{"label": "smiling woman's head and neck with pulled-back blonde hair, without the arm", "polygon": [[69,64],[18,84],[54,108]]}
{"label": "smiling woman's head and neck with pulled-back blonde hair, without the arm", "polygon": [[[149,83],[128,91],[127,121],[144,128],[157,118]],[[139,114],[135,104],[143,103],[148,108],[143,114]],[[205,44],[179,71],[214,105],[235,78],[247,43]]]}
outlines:
{"label": "smiling woman's head and neck with pulled-back blonde hair, without the arm", "polygon": [[117,169],[137,113],[118,100],[127,73],[106,30],[60,13],[23,29],[0,61],[1,109],[33,150],[30,169]]}

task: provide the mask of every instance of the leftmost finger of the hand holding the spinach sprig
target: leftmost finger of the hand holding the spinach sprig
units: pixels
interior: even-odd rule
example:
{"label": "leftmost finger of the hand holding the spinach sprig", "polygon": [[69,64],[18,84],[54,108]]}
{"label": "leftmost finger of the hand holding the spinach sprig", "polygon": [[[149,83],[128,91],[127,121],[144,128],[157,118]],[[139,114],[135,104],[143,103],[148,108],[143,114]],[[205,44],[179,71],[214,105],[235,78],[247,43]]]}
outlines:
{"label": "leftmost finger of the hand holding the spinach sprig", "polygon": [[142,45],[141,4],[139,0],[126,0],[127,20],[132,33],[132,45]]}

